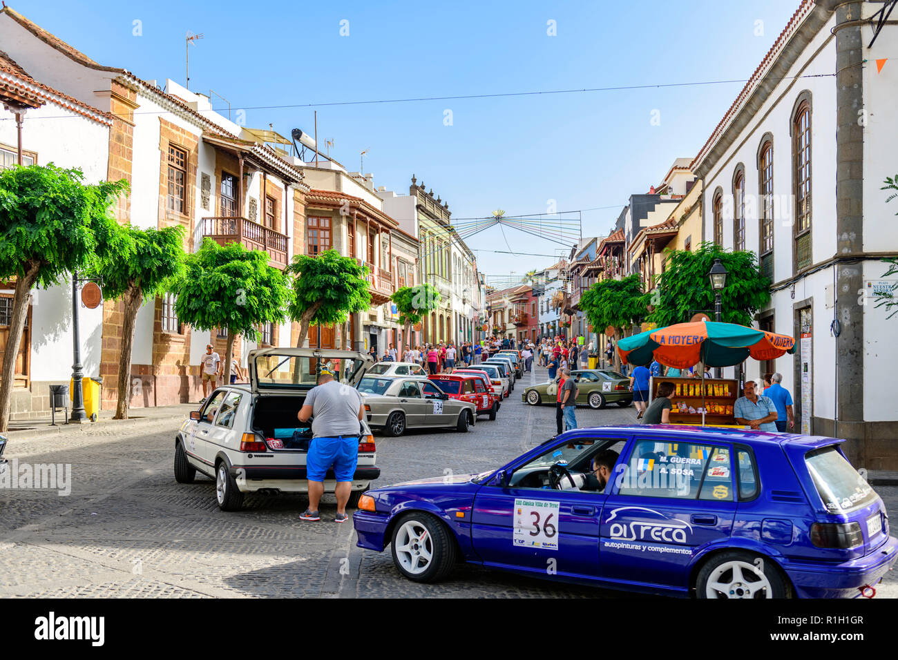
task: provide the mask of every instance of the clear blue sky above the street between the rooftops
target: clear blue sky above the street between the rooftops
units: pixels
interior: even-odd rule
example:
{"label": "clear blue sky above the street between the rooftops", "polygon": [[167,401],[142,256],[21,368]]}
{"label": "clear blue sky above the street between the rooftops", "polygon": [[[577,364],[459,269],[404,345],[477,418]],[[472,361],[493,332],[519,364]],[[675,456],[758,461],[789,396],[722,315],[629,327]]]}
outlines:
{"label": "clear blue sky above the street between the rooftops", "polygon": [[[184,83],[185,34],[202,32],[190,48],[190,88],[214,90],[237,110],[744,80],[798,0],[8,4],[101,64],[160,83]],[[367,150],[376,186],[407,192],[414,172],[455,217],[544,213],[551,199],[559,211],[612,207],[583,214],[584,235],[604,235],[630,194],[698,152],[742,86],[321,106],[318,135],[322,146],[333,138],[331,155],[350,171]],[[246,110],[247,125],[312,133],[313,110]],[[564,251],[497,227],[468,243],[489,276],[554,260],[491,251]]]}

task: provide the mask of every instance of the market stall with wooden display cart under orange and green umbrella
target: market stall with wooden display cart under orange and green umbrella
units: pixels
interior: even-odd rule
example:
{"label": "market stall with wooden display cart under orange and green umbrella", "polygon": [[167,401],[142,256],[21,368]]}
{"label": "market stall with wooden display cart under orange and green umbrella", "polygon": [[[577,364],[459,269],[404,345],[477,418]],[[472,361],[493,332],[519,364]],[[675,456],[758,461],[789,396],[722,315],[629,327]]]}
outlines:
{"label": "market stall with wooden display cart under orange and green umbrella", "polygon": [[[657,360],[675,369],[689,369],[696,365],[733,366],[749,357],[776,359],[795,353],[795,339],[735,323],[694,321],[625,337],[618,342],[617,351],[625,365],[645,366]],[[664,381],[674,383],[674,387],[679,383],[681,393],[674,391],[671,396],[675,407],[671,409],[672,422],[702,426],[735,424],[733,408],[735,400],[742,396],[742,383],[706,380],[703,368],[701,373],[700,379],[653,378],[650,395],[654,398],[657,386]]]}

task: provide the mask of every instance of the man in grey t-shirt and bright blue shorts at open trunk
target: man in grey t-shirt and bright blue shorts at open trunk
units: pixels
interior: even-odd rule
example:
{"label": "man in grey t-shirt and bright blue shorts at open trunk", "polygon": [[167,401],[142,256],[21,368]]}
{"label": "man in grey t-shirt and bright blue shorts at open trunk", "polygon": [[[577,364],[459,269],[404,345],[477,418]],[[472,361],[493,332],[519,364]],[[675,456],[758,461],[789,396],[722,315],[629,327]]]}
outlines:
{"label": "man in grey t-shirt and bright blue shorts at open trunk", "polygon": [[348,520],[346,503],[349,501],[352,478],[358,462],[359,422],[365,414],[362,394],[354,387],[334,380],[325,369],[318,377],[318,387],[306,395],[299,421],[312,420],[312,444],[305,457],[305,475],[309,481],[309,508],[302,520],[321,520],[318,503],[324,494],[324,476],[333,467],[337,480],[334,493],[337,496],[338,523]]}

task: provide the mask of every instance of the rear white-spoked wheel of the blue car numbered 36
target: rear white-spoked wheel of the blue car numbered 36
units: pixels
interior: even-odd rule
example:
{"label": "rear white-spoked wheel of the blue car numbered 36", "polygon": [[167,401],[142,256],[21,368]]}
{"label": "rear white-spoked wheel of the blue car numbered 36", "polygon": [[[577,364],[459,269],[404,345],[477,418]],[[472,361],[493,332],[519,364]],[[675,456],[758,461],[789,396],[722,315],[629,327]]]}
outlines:
{"label": "rear white-spoked wheel of the blue car numbered 36", "polygon": [[771,559],[747,552],[724,552],[699,572],[700,598],[786,598],[788,583]]}

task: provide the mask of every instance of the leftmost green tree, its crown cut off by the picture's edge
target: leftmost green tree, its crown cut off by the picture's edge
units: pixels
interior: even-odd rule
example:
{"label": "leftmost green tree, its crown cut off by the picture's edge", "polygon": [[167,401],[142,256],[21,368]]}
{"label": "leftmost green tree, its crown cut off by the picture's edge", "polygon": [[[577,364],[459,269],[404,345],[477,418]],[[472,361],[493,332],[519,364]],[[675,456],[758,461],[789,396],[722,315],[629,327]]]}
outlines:
{"label": "leftmost green tree, its crown cut off by the picture's edge", "polygon": [[0,280],[15,277],[13,316],[0,371],[0,431],[9,424],[15,361],[31,288],[59,284],[97,257],[127,252],[110,208],[127,181],[84,184],[79,170],[13,167],[0,172]]}

